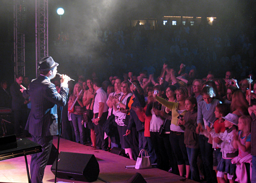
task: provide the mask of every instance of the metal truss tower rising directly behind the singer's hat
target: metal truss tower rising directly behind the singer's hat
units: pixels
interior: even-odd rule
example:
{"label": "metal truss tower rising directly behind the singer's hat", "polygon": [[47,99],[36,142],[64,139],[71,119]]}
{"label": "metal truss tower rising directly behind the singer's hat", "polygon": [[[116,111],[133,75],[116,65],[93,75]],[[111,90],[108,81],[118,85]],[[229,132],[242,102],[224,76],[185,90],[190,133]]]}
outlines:
{"label": "metal truss tower rising directly behind the singer's hat", "polygon": [[35,0],[36,73],[38,62],[48,56],[48,0]]}

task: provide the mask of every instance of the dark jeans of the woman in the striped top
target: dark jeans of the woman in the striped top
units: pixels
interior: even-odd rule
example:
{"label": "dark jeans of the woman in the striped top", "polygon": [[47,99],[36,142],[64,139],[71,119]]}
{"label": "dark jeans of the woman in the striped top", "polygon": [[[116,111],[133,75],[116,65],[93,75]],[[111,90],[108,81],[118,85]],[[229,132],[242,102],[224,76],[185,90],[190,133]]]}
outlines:
{"label": "dark jeans of the woman in the striped top", "polygon": [[204,135],[199,135],[199,147],[204,165],[204,172],[207,182],[217,182],[216,173],[213,170],[213,149],[212,144],[208,143],[208,138]]}

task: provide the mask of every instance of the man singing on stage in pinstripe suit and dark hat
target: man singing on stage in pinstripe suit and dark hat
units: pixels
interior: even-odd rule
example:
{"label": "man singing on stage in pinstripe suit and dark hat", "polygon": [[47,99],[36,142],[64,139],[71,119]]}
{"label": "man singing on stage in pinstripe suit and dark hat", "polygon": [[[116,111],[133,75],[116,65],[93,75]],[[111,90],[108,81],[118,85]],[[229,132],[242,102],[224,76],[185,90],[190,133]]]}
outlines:
{"label": "man singing on stage in pinstripe suit and dark hat", "polygon": [[32,183],[42,183],[53,136],[58,135],[57,105],[65,106],[68,98],[68,76],[62,75],[60,94],[55,85],[50,82],[50,79],[56,76],[58,65],[52,57],[42,58],[38,67],[41,75],[30,83],[29,89],[20,85],[23,97],[30,96],[31,101],[26,129],[29,130],[33,141],[42,145],[42,152],[33,154],[31,157]]}

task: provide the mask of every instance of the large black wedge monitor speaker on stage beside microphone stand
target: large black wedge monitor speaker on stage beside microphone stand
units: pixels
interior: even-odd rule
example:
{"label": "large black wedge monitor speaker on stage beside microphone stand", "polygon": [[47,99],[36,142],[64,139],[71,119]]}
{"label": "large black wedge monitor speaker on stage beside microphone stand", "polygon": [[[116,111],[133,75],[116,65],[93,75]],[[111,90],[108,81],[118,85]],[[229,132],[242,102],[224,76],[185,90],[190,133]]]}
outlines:
{"label": "large black wedge monitor speaker on stage beside microphone stand", "polygon": [[[55,175],[56,160],[51,171]],[[93,182],[99,175],[99,164],[94,155],[60,152],[57,178]]]}

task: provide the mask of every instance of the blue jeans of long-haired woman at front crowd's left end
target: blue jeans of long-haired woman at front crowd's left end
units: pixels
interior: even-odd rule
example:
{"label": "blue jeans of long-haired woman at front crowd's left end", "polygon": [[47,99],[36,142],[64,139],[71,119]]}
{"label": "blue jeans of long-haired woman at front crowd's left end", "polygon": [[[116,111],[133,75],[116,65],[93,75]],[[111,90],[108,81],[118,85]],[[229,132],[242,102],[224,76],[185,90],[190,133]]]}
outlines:
{"label": "blue jeans of long-haired woman at front crowd's left end", "polygon": [[80,141],[80,144],[85,144],[85,131],[84,131],[84,126],[81,123],[83,119],[83,115],[71,113],[71,119],[74,126],[76,142],[78,143]]}

